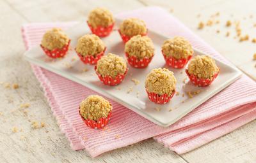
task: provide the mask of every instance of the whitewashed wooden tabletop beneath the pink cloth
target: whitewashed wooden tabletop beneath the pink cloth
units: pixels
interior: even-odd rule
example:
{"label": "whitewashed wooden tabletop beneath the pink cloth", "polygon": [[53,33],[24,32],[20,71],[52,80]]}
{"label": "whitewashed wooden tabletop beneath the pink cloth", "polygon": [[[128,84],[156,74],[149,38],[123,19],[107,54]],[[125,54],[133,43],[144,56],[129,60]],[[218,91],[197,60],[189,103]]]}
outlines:
{"label": "whitewashed wooden tabletop beneath the pink cloth", "polygon": [[[251,41],[239,43],[239,39],[234,39],[234,27],[225,27],[227,20],[241,20],[242,34],[248,33],[250,39],[256,38],[256,27],[253,27],[253,23],[256,24],[254,0],[3,0],[0,1],[0,162],[256,162],[256,120],[184,155],[177,155],[152,139],[104,153],[95,159],[84,150],[70,149],[56,124],[40,83],[29,63],[22,59],[25,48],[20,25],[29,22],[84,21],[88,12],[96,6],[105,6],[118,13],[150,5],[162,6],[172,12],[239,69],[256,79],[256,62],[252,60],[256,44]],[[205,22],[217,12],[220,12],[220,24],[197,29],[200,20]],[[230,31],[229,37],[225,37],[227,31]],[[18,83],[20,88],[8,88],[8,83],[11,86]],[[28,113],[20,109],[23,103],[31,104],[26,109]],[[33,129],[33,121],[42,121],[45,127]],[[18,132],[13,133],[13,127],[17,127]]]}

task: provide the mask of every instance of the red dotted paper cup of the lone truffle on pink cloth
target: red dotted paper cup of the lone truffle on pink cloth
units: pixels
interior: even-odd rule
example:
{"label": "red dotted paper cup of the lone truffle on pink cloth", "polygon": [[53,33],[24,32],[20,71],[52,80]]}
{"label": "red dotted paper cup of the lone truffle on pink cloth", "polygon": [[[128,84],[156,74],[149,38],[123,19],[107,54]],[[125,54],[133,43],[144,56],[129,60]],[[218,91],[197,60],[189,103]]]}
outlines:
{"label": "red dotted paper cup of the lone truffle on pink cloth", "polygon": [[79,115],[84,121],[84,124],[86,124],[88,127],[91,127],[92,129],[102,129],[108,124],[109,119],[111,117],[111,111],[108,113],[108,117],[106,118],[102,117],[102,118],[99,118],[98,120],[84,119],[84,117],[80,114],[80,110],[79,110]]}

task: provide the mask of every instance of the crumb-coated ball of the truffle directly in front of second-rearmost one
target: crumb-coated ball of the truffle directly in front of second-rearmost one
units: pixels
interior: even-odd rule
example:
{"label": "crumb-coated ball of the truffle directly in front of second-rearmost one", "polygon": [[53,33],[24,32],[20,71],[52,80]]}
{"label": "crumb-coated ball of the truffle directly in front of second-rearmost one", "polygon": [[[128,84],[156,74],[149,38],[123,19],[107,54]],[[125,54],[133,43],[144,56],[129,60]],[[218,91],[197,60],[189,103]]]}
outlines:
{"label": "crumb-coated ball of the truffle directly in front of second-rearmost one", "polygon": [[133,36],[125,44],[125,53],[138,59],[150,58],[154,55],[154,45],[148,36]]}

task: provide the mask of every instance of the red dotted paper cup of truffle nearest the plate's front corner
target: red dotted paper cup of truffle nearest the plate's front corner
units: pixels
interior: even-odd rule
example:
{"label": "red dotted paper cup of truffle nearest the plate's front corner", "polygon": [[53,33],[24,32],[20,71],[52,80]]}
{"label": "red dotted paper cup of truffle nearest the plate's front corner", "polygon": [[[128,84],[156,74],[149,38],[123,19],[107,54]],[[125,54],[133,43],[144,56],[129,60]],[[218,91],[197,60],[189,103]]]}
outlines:
{"label": "red dotted paper cup of truffle nearest the plate's front corner", "polygon": [[175,94],[175,91],[173,91],[173,93],[168,96],[168,94],[163,94],[161,96],[159,96],[158,94],[154,93],[154,92],[148,92],[146,90],[147,94],[148,94],[148,99],[150,99],[150,101],[156,103],[156,104],[166,104],[168,103],[173,95]]}

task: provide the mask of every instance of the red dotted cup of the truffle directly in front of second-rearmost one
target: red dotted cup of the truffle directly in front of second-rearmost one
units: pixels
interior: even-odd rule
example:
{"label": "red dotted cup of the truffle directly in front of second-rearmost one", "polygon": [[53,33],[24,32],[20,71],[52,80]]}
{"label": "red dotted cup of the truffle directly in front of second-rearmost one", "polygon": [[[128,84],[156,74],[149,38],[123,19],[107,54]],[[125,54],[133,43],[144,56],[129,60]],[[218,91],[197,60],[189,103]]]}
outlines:
{"label": "red dotted cup of the truffle directly in front of second-rearmost one", "polygon": [[152,57],[150,58],[143,58],[143,59],[138,59],[137,57],[134,56],[129,56],[128,53],[125,53],[126,57],[127,57],[127,61],[128,63],[135,68],[145,68],[148,66],[148,64],[151,62]]}

